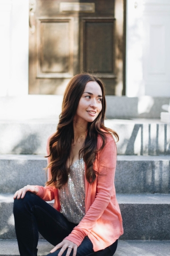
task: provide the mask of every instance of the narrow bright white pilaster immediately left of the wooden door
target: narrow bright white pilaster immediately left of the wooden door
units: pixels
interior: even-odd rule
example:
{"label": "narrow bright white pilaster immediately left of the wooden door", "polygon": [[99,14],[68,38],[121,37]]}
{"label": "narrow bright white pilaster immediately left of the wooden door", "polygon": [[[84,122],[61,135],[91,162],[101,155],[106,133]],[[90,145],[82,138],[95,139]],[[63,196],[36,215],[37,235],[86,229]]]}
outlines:
{"label": "narrow bright white pilaster immediately left of the wooden door", "polygon": [[12,0],[11,80],[8,95],[28,94],[29,2]]}

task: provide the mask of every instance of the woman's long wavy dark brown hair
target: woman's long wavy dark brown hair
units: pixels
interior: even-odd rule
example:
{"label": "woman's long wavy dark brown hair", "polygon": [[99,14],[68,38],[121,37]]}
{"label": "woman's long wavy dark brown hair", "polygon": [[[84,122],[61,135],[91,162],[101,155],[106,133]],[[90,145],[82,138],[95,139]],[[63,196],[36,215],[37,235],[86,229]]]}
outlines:
{"label": "woman's long wavy dark brown hair", "polygon": [[[106,133],[112,133],[118,141],[118,134],[104,126],[106,99],[103,82],[96,76],[87,73],[74,76],[67,85],[64,93],[62,113],[57,125],[57,131],[53,137],[50,138],[49,156],[51,162],[48,167],[51,167],[52,180],[48,181],[46,185],[54,185],[56,188],[60,189],[68,181],[70,168],[67,167],[66,163],[70,156],[71,144],[74,138],[73,118],[76,114],[85,86],[90,81],[96,81],[99,84],[103,98],[101,101],[102,109],[97,118],[92,123],[88,123],[86,139],[83,148],[79,152],[79,158],[82,154],[83,160],[86,163],[86,179],[89,183],[94,182],[96,179],[97,172],[93,169],[93,163],[97,151],[103,149],[105,146]],[[101,136],[103,144],[101,148],[97,150],[98,135]]]}

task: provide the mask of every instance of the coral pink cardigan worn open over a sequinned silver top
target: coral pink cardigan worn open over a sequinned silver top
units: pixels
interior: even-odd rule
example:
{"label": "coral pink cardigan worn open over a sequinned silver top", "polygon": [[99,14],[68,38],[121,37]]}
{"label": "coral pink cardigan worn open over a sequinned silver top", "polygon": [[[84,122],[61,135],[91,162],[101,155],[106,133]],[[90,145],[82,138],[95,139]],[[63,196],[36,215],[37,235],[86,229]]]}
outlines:
{"label": "coral pink cardigan worn open over a sequinned silver top", "polygon": [[[93,244],[94,251],[105,249],[113,244],[123,234],[122,217],[120,207],[116,200],[114,177],[116,169],[116,144],[112,135],[106,135],[107,142],[102,151],[97,154],[94,162],[94,170],[99,172],[91,185],[85,180],[85,211],[84,218],[80,221],[71,234],[65,239],[78,246],[85,236],[88,236]],[[51,137],[51,136],[50,136]],[[49,154],[49,140],[47,141],[47,154]],[[97,148],[100,148],[102,139],[98,136]],[[49,163],[50,159],[48,159]],[[48,180],[52,174],[48,170]],[[55,199],[54,208],[60,211],[58,191],[52,186],[36,186],[38,196],[45,201]]]}

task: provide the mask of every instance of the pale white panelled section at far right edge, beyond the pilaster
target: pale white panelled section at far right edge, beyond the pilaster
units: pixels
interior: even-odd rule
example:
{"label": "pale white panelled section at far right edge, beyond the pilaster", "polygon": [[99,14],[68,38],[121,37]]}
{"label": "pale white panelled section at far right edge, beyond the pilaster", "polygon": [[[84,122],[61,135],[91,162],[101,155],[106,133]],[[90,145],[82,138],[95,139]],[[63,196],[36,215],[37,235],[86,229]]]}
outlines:
{"label": "pale white panelled section at far right edge, beyond the pilaster", "polygon": [[170,97],[170,1],[145,1],[143,27],[143,77],[146,94],[152,97]]}

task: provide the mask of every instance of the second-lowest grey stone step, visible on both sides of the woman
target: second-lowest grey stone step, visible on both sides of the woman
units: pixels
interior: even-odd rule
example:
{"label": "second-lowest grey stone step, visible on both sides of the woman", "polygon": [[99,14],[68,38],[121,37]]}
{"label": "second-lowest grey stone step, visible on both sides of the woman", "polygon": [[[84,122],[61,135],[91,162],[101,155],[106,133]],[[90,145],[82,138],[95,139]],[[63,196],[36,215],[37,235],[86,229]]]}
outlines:
{"label": "second-lowest grey stone step, visible on both sides of the woman", "polygon": [[[170,195],[117,194],[123,218],[123,240],[170,240]],[[0,195],[0,238],[15,237],[13,195]]]}

